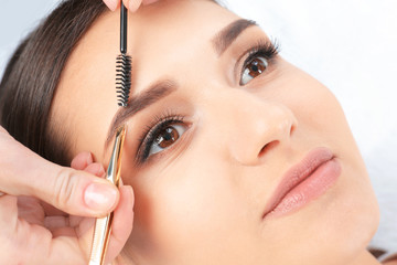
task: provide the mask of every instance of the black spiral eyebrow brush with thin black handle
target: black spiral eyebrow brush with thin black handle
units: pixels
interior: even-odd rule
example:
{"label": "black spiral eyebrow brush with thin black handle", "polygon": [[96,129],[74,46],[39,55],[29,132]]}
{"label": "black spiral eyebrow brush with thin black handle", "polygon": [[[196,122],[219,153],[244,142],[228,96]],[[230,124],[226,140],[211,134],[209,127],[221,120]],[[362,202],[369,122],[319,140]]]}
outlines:
{"label": "black spiral eyebrow brush with thin black handle", "polygon": [[131,88],[131,56],[127,54],[127,8],[120,7],[120,53],[116,60],[116,93],[120,107],[127,107]]}

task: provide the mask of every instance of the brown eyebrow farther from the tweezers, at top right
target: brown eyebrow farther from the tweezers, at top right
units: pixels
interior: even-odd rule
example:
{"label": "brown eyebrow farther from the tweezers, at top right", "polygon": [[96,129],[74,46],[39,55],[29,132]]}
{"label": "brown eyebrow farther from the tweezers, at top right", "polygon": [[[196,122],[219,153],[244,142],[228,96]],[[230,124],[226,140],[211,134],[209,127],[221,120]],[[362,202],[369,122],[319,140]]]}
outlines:
{"label": "brown eyebrow farther from the tweezers, at top right", "polygon": [[213,46],[218,56],[221,56],[228,49],[228,46],[237,39],[239,34],[242,34],[243,31],[253,25],[258,24],[253,20],[239,19],[221,30],[221,32],[217,33],[212,40]]}

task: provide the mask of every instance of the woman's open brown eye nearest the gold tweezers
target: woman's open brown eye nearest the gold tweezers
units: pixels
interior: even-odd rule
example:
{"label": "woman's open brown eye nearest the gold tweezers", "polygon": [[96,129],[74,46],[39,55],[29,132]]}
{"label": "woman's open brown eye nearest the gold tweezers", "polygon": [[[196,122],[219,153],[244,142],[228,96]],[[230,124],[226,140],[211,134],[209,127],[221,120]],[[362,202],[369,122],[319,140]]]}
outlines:
{"label": "woman's open brown eye nearest the gold tweezers", "polygon": [[182,124],[167,125],[153,134],[153,140],[149,146],[148,157],[161,152],[174,145],[186,131]]}

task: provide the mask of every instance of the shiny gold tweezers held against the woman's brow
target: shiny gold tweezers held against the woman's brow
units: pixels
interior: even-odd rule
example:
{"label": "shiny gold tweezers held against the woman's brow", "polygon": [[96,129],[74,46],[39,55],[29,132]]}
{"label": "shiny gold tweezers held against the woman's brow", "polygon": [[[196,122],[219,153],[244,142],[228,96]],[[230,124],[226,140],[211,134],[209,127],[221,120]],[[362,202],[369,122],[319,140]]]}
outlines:
{"label": "shiny gold tweezers held against the woman's brow", "polygon": [[[106,172],[106,179],[119,188],[121,172],[121,153],[126,136],[125,126],[120,127],[116,132],[115,146],[110,157],[110,162]],[[95,220],[94,240],[88,265],[104,265],[106,251],[111,233],[111,222],[114,213],[109,213],[105,218]]]}

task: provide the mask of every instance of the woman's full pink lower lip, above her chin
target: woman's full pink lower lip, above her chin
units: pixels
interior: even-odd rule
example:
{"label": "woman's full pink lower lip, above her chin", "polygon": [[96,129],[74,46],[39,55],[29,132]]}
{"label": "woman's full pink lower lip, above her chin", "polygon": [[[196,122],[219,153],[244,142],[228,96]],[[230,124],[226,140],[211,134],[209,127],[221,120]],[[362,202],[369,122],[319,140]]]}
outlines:
{"label": "woman's full pink lower lip, above her chin", "polygon": [[265,218],[282,216],[304,206],[324,194],[336,182],[341,171],[341,165],[335,158],[321,165],[309,178],[289,191]]}

